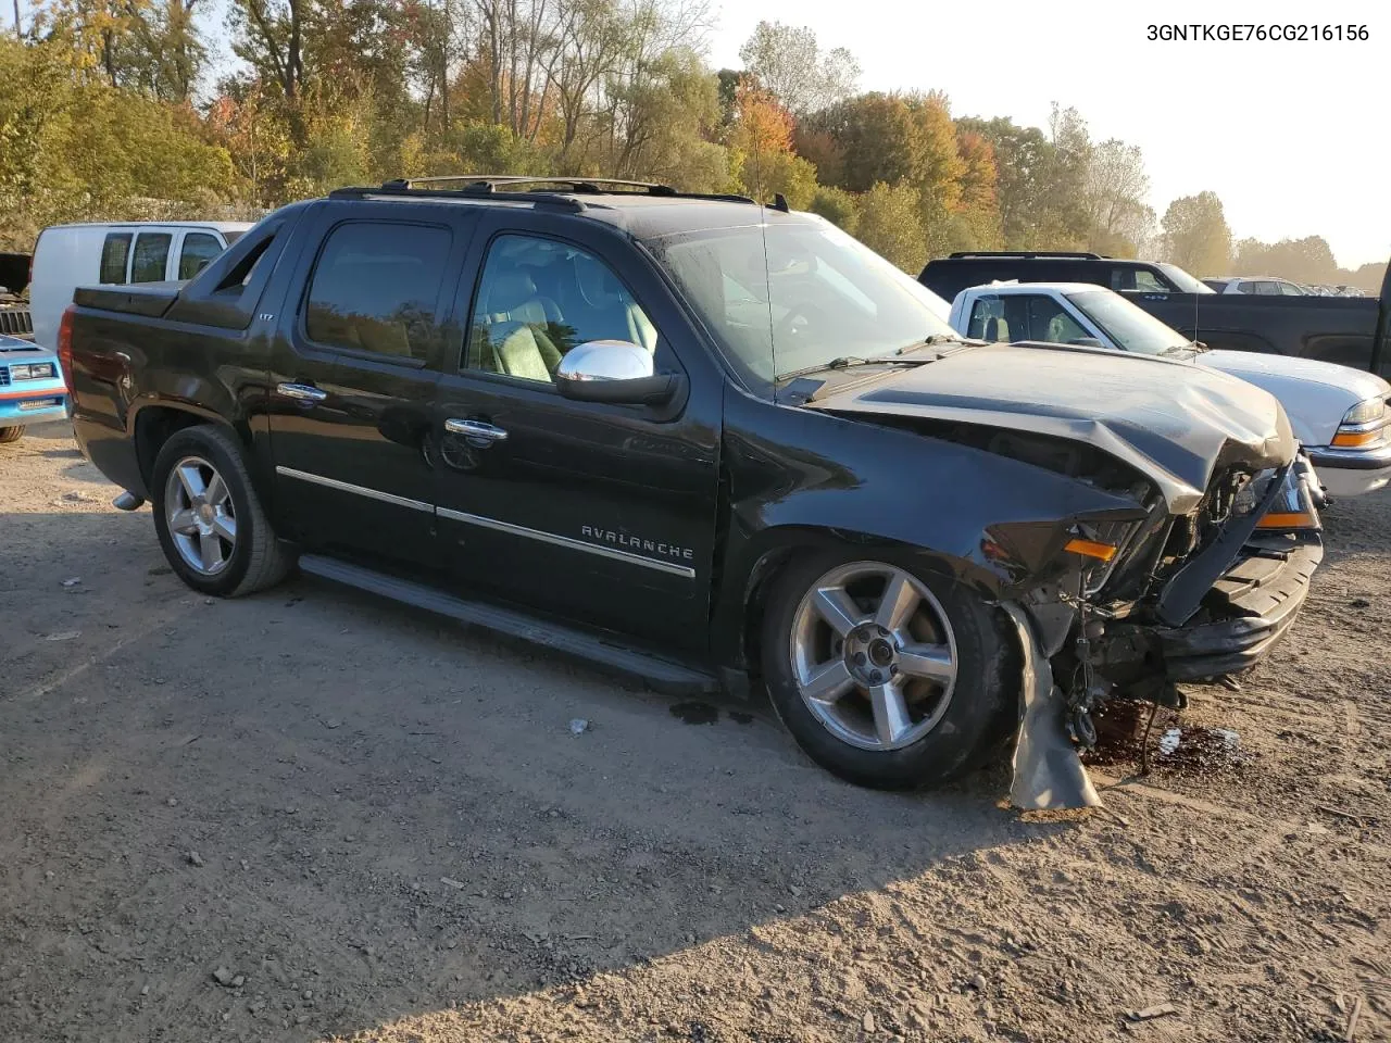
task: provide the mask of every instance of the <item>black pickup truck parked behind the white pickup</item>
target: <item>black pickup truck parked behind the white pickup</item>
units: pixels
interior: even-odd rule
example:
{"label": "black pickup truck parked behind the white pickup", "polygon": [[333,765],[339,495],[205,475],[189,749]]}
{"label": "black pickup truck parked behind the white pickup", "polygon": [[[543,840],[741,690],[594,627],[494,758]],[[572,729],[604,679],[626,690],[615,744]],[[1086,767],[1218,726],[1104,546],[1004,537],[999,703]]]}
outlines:
{"label": "black pickup truck parked behind the white pickup", "polygon": [[1214,293],[1174,264],[1099,253],[976,252],[929,260],[918,281],[946,300],[992,281],[1093,282],[1209,348],[1321,359],[1391,375],[1391,266],[1381,299]]}

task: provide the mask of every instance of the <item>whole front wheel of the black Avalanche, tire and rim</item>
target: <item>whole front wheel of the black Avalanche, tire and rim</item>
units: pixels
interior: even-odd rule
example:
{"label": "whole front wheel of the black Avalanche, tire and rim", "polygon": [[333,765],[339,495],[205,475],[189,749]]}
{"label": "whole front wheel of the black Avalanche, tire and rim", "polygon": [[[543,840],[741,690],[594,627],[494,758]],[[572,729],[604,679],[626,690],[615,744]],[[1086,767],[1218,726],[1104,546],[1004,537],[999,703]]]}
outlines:
{"label": "whole front wheel of the black Avalanche, tire and rim", "polygon": [[996,748],[1018,706],[1011,649],[978,594],[897,555],[797,560],[764,616],[783,723],[817,763],[881,790],[949,782]]}

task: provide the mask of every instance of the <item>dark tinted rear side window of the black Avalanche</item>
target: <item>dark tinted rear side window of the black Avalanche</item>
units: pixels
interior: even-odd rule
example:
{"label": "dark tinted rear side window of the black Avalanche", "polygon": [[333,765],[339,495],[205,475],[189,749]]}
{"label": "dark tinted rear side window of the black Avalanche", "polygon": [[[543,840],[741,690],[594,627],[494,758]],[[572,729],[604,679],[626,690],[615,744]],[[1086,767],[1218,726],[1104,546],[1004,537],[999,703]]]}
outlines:
{"label": "dark tinted rear side window of the black Avalanche", "polygon": [[426,360],[449,259],[449,231],[352,221],[324,243],[309,286],[305,331],[330,348]]}

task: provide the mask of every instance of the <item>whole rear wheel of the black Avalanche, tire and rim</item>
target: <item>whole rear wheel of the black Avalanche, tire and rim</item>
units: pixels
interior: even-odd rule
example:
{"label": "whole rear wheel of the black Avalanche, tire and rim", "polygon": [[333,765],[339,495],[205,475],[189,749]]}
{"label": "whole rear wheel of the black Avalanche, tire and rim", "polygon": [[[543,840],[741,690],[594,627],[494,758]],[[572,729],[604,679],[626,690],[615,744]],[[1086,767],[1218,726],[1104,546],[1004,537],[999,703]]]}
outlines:
{"label": "whole rear wheel of the black Avalanche, tire and rim", "polygon": [[275,538],[230,431],[211,424],[175,431],[154,459],[150,494],[164,556],[200,594],[235,598],[289,572],[292,556]]}

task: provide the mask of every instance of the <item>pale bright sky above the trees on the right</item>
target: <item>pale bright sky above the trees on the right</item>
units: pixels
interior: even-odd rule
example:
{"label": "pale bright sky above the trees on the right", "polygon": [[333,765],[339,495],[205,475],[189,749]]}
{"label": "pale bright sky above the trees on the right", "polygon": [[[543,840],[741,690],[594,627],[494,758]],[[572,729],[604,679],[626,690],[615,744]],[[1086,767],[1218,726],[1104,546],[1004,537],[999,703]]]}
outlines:
{"label": "pale bright sky above the trees on the right", "polygon": [[[1074,106],[1093,140],[1139,145],[1150,206],[1216,192],[1239,239],[1321,235],[1338,263],[1391,256],[1391,4],[1093,0],[715,0],[711,61],[737,68],[759,19],[849,47],[867,90],[940,89],[953,115],[1046,127]],[[1143,7],[1145,10],[1139,10]],[[1383,14],[1385,11],[1385,14]],[[1259,13],[1259,14],[1257,14]],[[1152,43],[1148,25],[1219,19],[1367,25],[1370,40]]]}

